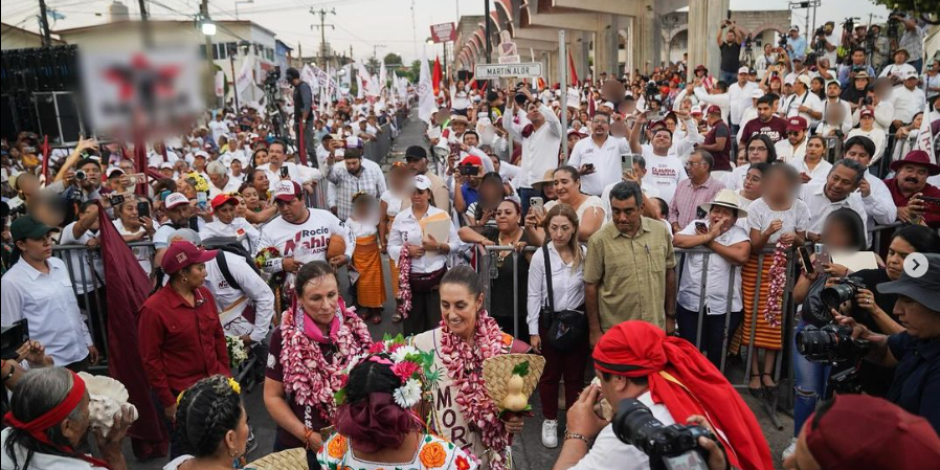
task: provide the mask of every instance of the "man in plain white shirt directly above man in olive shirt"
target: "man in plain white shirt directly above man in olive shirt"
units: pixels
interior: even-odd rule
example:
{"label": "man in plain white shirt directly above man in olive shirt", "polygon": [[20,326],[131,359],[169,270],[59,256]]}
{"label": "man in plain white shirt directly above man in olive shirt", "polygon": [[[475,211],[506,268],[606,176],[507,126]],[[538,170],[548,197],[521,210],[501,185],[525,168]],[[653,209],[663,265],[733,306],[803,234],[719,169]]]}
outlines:
{"label": "man in plain white shirt directly above man in olive shirt", "polygon": [[581,192],[600,196],[607,185],[620,181],[620,156],[630,153],[630,144],[610,136],[606,114],[595,115],[591,127],[591,137],[575,144],[568,164],[581,172]]}

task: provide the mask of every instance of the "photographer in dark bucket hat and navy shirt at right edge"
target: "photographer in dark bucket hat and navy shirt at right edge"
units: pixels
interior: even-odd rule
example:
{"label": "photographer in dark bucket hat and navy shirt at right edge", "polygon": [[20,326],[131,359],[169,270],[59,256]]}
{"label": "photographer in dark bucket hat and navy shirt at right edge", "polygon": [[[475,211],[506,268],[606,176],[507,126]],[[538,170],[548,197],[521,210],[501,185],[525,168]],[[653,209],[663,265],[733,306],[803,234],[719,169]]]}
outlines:
{"label": "photographer in dark bucket hat and navy shirt at right edge", "polygon": [[921,265],[920,277],[909,274],[909,264],[900,279],[877,287],[882,294],[898,296],[894,313],[907,331],[885,336],[851,317],[836,320],[852,327],[852,338],[871,344],[867,360],[895,368],[887,399],[923,416],[940,433],[940,255],[925,257],[928,266]]}

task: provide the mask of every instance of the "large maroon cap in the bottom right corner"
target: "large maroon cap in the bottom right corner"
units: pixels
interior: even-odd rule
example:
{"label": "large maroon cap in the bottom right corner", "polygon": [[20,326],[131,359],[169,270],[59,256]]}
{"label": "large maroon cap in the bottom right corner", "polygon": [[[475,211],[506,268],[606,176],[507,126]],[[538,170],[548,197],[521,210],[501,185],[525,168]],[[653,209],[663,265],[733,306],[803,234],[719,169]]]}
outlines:
{"label": "large maroon cap in the bottom right corner", "polygon": [[940,437],[926,419],[887,400],[837,395],[819,422],[806,422],[806,446],[826,470],[923,470],[940,462]]}

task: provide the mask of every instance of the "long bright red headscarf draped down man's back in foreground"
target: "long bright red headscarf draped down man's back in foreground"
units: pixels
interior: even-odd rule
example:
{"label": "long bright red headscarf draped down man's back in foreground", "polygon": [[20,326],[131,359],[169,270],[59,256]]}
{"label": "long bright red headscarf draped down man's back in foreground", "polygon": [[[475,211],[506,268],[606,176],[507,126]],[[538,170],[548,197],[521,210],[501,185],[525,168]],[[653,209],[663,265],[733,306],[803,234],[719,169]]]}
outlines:
{"label": "long bright red headscarf draped down man's back in foreground", "polygon": [[702,415],[720,429],[731,465],[744,470],[774,468],[770,448],[754,413],[721,372],[695,346],[642,321],[621,323],[594,349],[597,370],[622,377],[648,377],[655,403],[666,405],[677,423]]}

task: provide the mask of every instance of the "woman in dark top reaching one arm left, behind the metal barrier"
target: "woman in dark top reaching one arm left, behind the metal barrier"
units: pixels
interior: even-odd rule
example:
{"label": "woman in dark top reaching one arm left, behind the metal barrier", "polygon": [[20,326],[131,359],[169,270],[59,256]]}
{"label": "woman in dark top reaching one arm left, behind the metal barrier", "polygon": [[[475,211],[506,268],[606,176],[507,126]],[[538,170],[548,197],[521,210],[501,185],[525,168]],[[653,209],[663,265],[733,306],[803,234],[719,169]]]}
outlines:
{"label": "woman in dark top reaching one arm left, behind the metal barrier", "polygon": [[[460,239],[465,243],[475,243],[481,247],[509,246],[521,251],[529,244],[528,234],[522,229],[522,208],[516,201],[507,199],[496,206],[494,220],[495,227],[464,227],[460,229]],[[482,253],[482,251],[481,251]],[[485,253],[482,253],[485,254]],[[522,289],[529,284],[529,261],[531,254],[519,256],[518,271],[512,262],[512,251],[496,252],[491,258],[496,264],[496,276],[491,279],[492,300],[490,302],[493,318],[499,327],[506,332],[516,332],[514,321],[513,302],[518,308],[520,317],[526,309],[526,296]],[[518,278],[519,293],[513,289],[513,277]]]}

